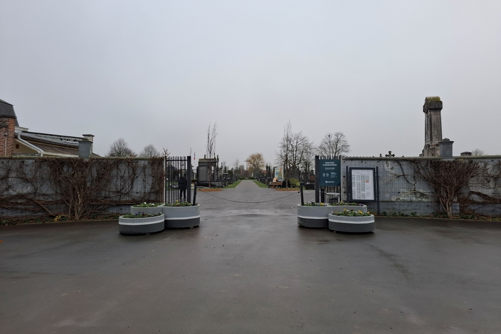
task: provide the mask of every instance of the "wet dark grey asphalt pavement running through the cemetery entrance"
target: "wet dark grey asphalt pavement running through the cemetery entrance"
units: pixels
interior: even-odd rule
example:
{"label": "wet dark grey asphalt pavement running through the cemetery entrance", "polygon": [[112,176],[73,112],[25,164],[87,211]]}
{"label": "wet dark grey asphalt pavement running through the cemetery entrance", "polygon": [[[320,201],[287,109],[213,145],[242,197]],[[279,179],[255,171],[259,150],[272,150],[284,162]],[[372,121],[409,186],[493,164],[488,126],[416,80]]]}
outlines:
{"label": "wet dark grey asphalt pavement running through the cemetery entrance", "polygon": [[[501,223],[297,226],[299,194],[197,194],[201,226],[0,227],[0,333],[499,333]],[[313,192],[305,194],[313,199]]]}

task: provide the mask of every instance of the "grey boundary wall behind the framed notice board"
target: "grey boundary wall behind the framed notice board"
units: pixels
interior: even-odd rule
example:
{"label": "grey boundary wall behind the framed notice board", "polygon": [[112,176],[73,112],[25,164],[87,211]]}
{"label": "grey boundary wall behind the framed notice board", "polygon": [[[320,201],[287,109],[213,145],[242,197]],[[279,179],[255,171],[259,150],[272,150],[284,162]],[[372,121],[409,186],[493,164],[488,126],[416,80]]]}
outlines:
{"label": "grey boundary wall behind the framed notice board", "polygon": [[[454,157],[453,159],[465,159]],[[378,167],[381,212],[429,215],[443,212],[434,196],[433,189],[414,172],[413,164],[422,159],[442,159],[424,157],[343,157],[342,196],[346,200],[346,167]],[[501,215],[501,156],[467,157],[478,161],[482,166],[480,176],[472,178],[461,188],[459,198],[453,203],[453,214],[477,213],[483,215]],[[377,212],[375,202],[367,204],[369,211]]]}

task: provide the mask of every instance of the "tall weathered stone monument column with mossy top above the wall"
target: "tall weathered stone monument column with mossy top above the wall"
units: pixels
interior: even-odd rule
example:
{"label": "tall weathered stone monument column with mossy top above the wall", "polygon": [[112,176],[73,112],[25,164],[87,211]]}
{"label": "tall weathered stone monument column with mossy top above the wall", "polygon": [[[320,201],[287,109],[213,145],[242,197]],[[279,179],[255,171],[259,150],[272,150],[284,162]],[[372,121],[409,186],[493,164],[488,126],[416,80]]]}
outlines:
{"label": "tall weathered stone monument column with mossy top above the wall", "polygon": [[442,141],[442,101],[438,96],[426,97],[424,112],[424,149],[423,157],[440,156],[438,143]]}

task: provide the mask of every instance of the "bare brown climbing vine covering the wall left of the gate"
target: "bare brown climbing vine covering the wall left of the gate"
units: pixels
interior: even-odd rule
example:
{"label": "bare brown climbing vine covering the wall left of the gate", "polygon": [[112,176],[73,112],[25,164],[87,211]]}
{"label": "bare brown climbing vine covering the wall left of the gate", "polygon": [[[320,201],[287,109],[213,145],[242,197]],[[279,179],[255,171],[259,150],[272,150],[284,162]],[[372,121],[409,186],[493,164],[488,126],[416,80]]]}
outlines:
{"label": "bare brown climbing vine covering the wall left of the gate", "polygon": [[116,205],[162,200],[163,158],[5,158],[0,208],[86,218]]}

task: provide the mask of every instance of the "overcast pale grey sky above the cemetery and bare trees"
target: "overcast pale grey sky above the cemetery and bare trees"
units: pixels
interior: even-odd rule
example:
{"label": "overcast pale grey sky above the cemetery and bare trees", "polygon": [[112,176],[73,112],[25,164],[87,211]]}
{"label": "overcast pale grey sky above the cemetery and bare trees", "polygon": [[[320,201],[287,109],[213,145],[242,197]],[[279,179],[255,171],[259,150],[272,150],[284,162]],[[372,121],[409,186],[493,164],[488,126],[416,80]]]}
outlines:
{"label": "overcast pale grey sky above the cemetery and bare trees", "polygon": [[30,131],[275,160],[290,119],[350,155],[417,156],[426,96],[454,154],[501,153],[499,1],[0,2],[0,99]]}

